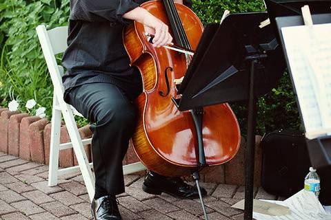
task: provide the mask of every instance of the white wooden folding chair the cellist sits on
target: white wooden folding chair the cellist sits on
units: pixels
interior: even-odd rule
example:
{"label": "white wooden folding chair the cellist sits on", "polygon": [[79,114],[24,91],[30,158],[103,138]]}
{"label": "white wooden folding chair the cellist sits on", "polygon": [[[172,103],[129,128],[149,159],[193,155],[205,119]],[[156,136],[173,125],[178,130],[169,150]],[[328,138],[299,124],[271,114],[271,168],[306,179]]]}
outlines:
{"label": "white wooden folding chair the cellist sits on", "polygon": [[[83,117],[74,107],[67,104],[63,100],[63,85],[61,76],[63,75],[63,67],[57,65],[55,55],[62,53],[66,50],[68,27],[59,27],[52,30],[46,30],[45,25],[39,25],[37,28],[37,35],[43,56],[46,59],[48,71],[52,78],[54,86],[53,106],[52,106],[52,133],[50,137],[50,168],[48,173],[48,186],[56,186],[58,176],[66,173],[71,173],[81,170],[83,175],[88,195],[90,199],[94,197],[94,175],[92,173],[92,163],[88,162],[84,145],[90,144],[92,138],[81,140],[77,124],[74,120],[74,115]],[[63,115],[64,122],[66,123],[71,142],[60,144],[60,129],[61,129],[61,114]],[[93,146],[92,146],[93,147]],[[70,168],[59,169],[59,151],[68,148],[74,149],[74,154],[77,157],[79,166]],[[135,173],[141,170],[146,170],[146,167],[137,162],[123,166],[124,175]]]}

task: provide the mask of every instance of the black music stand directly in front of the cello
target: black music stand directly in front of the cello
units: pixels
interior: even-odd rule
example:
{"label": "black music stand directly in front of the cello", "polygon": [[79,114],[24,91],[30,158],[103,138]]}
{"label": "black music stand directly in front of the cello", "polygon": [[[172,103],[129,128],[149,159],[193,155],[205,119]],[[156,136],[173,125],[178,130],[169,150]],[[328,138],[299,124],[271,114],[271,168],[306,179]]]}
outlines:
{"label": "black music stand directly in front of the cello", "polygon": [[[257,97],[275,87],[285,69],[281,47],[272,28],[259,28],[261,21],[267,18],[267,12],[230,14],[221,25],[207,25],[178,88],[177,94],[181,94],[181,98],[172,98],[179,110],[192,110],[201,139],[199,128],[204,106],[248,100],[245,220],[252,219]],[[202,140],[198,146],[200,165],[208,166]]]}

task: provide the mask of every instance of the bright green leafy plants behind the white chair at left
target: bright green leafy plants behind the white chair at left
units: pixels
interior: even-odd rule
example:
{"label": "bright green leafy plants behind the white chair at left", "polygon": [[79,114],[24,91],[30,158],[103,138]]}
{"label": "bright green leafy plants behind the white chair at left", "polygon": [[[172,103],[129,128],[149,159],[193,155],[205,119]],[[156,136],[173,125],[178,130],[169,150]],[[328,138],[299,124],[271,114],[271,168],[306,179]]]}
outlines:
{"label": "bright green leafy plants behind the white chair at left", "polygon": [[[47,28],[68,24],[69,1],[51,0],[0,1],[0,103],[6,106],[16,99],[23,111],[52,108],[52,82],[39,46],[35,28],[47,23]],[[37,106],[26,109],[27,100],[34,99]]]}

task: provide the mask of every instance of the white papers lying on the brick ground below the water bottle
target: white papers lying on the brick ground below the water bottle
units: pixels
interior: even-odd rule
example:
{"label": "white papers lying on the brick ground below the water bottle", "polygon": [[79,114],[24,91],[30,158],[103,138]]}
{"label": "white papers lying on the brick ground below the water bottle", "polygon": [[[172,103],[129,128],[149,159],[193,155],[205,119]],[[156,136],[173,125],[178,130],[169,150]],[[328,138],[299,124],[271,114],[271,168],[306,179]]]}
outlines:
{"label": "white papers lying on the brick ground below the water bottle", "polygon": [[285,201],[269,201],[288,206],[291,213],[283,216],[268,216],[253,212],[257,220],[330,220],[331,214],[323,209],[321,203],[312,192],[301,190]]}

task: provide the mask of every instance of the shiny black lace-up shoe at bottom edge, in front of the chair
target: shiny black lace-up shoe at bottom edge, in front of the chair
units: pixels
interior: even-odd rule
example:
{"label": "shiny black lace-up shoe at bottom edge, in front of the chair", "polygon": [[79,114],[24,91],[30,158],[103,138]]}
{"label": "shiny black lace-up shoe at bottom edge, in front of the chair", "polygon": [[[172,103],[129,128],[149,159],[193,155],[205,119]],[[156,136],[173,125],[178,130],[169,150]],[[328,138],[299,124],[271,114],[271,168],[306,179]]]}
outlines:
{"label": "shiny black lace-up shoe at bottom edge, in front of the chair", "polygon": [[116,197],[106,195],[99,199],[93,199],[91,204],[92,217],[94,220],[121,220]]}

